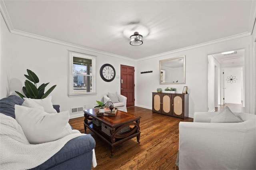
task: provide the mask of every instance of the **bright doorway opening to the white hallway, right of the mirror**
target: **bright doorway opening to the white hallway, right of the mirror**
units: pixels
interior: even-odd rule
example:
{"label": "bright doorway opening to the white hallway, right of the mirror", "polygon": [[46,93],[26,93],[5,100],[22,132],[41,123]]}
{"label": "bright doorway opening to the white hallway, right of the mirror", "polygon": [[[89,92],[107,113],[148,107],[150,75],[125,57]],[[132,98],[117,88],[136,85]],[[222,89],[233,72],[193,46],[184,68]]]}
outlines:
{"label": "bright doorway opening to the white hallway, right of the mirror", "polygon": [[245,107],[244,51],[208,55],[208,111],[220,105]]}

